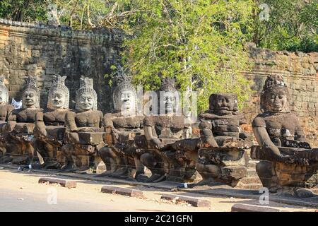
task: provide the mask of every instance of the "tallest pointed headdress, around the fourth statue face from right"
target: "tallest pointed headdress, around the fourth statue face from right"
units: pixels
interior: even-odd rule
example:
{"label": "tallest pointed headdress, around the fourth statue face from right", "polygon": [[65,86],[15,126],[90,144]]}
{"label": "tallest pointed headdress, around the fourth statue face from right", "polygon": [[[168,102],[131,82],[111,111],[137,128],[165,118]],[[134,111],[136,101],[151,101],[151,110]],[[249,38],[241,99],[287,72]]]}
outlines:
{"label": "tallest pointed headdress, around the fourth statue face from right", "polygon": [[123,90],[129,90],[133,93],[135,98],[135,108],[137,107],[137,93],[136,89],[134,88],[134,85],[131,84],[131,76],[127,76],[124,72],[124,69],[122,66],[117,66],[117,73],[114,76],[115,80],[117,81],[117,86],[114,88],[114,92],[112,93],[112,100],[114,102],[114,109],[115,110],[121,110],[121,106],[119,103],[119,97]]}

